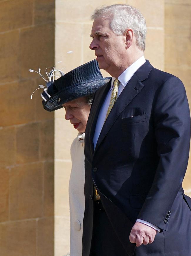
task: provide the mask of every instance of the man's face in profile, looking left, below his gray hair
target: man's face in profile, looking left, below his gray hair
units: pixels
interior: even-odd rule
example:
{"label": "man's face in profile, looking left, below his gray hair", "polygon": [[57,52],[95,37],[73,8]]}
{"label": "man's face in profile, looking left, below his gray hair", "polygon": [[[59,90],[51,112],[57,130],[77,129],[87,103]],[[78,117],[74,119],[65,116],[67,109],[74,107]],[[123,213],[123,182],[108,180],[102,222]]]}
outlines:
{"label": "man's face in profile, looking left, below his gray hair", "polygon": [[109,22],[109,19],[94,20],[90,35],[93,38],[90,49],[95,50],[100,69],[105,69],[111,76],[115,76],[116,71],[125,70],[123,61],[126,37],[115,35],[110,29]]}

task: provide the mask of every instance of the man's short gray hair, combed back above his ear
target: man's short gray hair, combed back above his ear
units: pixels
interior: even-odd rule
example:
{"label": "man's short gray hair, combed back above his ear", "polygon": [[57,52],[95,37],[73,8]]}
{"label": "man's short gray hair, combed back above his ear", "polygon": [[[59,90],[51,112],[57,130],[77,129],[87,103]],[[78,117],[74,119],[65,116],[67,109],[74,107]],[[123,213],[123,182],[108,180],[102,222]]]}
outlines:
{"label": "man's short gray hair, combed back above his ear", "polygon": [[145,50],[146,22],[140,11],[127,4],[113,4],[97,8],[91,19],[110,19],[110,28],[115,35],[123,35],[127,28],[135,34],[136,45],[140,50]]}

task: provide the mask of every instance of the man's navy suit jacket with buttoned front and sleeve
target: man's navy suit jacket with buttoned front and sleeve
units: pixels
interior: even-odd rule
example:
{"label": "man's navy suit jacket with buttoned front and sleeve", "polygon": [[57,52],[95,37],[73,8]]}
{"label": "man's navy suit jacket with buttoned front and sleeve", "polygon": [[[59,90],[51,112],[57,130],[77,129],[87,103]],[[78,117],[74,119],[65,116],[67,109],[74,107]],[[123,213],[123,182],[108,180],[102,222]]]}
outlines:
{"label": "man's navy suit jacket with buttoned front and sleeve", "polygon": [[182,200],[184,207],[191,205],[181,187],[190,111],[180,79],[146,61],[116,100],[94,150],[96,121],[110,86],[111,80],[96,92],[86,126],[83,256],[91,247],[93,183],[128,255],[135,250],[128,236],[136,219],[176,232],[176,208]]}

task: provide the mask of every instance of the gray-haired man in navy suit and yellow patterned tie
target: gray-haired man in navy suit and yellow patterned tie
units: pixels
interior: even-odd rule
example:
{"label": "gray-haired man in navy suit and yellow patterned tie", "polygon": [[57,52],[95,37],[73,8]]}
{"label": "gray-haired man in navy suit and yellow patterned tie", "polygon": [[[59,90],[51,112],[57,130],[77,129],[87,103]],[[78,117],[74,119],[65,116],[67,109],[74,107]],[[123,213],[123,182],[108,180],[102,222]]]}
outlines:
{"label": "gray-haired man in navy suit and yellow patterned tie", "polygon": [[184,85],[145,61],[137,9],[107,6],[93,20],[90,49],[112,79],[96,92],[86,126],[83,256],[190,256]]}

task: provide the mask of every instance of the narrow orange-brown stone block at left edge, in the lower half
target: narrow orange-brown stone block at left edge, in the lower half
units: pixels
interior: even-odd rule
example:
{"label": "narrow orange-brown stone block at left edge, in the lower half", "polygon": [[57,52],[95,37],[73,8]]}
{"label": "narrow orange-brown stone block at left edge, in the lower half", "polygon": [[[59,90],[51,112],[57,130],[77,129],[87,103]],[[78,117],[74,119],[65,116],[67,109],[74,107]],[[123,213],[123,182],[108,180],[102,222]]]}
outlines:
{"label": "narrow orange-brown stone block at left edge, in the lower half", "polygon": [[0,222],[9,219],[9,170],[0,168]]}

